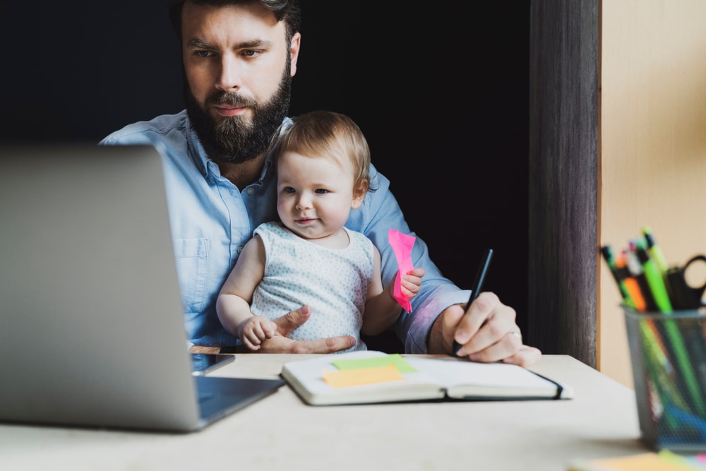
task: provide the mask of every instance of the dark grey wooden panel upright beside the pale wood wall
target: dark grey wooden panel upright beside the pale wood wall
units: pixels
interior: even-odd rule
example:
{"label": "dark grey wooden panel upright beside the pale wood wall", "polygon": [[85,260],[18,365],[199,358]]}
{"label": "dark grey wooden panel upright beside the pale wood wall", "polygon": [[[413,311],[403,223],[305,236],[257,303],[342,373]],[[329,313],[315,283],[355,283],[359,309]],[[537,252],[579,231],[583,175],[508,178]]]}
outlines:
{"label": "dark grey wooden panel upright beside the pale wood wall", "polygon": [[530,7],[527,342],[595,366],[598,0]]}

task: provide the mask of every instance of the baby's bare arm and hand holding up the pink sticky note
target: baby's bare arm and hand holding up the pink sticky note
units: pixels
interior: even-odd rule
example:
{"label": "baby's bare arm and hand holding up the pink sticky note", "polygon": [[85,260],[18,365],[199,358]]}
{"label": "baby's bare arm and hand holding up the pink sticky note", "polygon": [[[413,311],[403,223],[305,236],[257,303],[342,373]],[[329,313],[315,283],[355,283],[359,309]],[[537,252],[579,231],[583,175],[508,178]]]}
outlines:
{"label": "baby's bare arm and hand holding up the pink sticky note", "polygon": [[[368,287],[368,299],[365,302],[363,326],[361,328],[361,333],[365,335],[383,333],[402,314],[402,307],[393,295],[396,275],[387,286],[383,287],[380,274],[380,252],[377,247],[374,247],[374,250],[373,280]],[[402,295],[405,298],[412,299],[419,294],[422,277],[424,277],[424,268],[414,268],[409,270],[407,274],[402,275]]]}

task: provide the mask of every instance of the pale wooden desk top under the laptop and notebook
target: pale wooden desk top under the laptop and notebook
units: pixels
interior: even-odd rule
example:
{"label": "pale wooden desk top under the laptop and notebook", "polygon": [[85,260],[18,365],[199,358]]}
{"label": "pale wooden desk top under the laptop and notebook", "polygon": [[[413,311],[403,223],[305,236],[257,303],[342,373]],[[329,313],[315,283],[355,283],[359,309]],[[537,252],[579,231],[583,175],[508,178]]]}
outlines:
{"label": "pale wooden desk top under the laptop and notebook", "polygon": [[[237,354],[212,375],[271,378],[310,356]],[[312,407],[283,386],[194,434],[0,424],[0,470],[565,471],[646,450],[632,389],[565,355],[532,369],[575,398]]]}

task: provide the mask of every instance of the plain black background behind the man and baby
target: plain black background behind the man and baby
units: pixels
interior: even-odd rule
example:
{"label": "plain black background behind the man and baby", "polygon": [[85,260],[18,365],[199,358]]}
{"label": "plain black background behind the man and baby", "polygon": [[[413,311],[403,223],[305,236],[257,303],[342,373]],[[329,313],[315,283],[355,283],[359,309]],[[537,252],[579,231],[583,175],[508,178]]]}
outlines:
{"label": "plain black background behind the man and baby", "polygon": [[[165,4],[1,4],[0,142],[97,142],[179,112]],[[303,0],[290,114],[357,121],[443,273],[469,287],[493,248],[486,290],[526,330],[530,0],[458,4]]]}

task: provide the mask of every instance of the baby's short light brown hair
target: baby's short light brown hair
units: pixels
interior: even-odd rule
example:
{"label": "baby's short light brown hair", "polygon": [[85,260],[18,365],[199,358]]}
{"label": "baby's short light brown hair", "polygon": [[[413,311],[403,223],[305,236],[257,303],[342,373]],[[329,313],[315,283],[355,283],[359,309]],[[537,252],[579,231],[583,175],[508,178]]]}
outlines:
{"label": "baby's short light brown hair", "polygon": [[[370,148],[363,131],[345,114],[312,111],[292,118],[294,124],[280,137],[277,158],[293,152],[326,158],[353,169],[353,189],[369,189]],[[371,191],[375,189],[370,188]]]}

